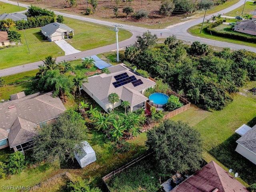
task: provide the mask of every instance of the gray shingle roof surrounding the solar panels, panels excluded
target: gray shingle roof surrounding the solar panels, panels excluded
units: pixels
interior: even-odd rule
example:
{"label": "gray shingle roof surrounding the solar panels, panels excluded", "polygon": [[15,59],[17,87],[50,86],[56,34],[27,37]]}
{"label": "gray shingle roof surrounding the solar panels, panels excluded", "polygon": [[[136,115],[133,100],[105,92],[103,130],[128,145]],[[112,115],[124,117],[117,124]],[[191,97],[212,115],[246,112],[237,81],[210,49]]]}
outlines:
{"label": "gray shingle roof surrounding the solar panels, panels excluded", "polygon": [[[122,94],[123,87],[125,87],[126,90],[129,90],[129,92],[133,93],[133,94],[130,94],[131,98],[128,99],[126,96],[125,100],[128,100],[128,101],[134,100],[130,102],[130,104],[136,103],[137,102],[135,99],[136,96],[141,95],[140,99],[138,100],[145,98],[142,94],[139,93],[141,90],[145,90],[156,84],[155,82],[153,82],[148,78],[143,78],[142,76],[138,76],[134,74],[128,68],[126,68],[124,64],[111,66],[108,69],[110,71],[110,74],[99,74],[99,75],[91,76],[88,78],[88,82],[83,83],[83,86],[86,87],[88,90],[90,90],[90,92],[94,96],[96,96],[100,101],[102,101],[105,105],[109,104],[108,95],[111,93],[118,94],[119,98],[121,99],[124,98],[124,94]],[[115,88],[114,85],[112,84],[113,82],[116,82],[116,79],[114,78],[114,76],[118,74],[122,74],[124,72],[126,72],[129,76],[134,75],[137,79],[141,79],[143,84],[134,87],[132,83],[128,83],[118,88]]]}

